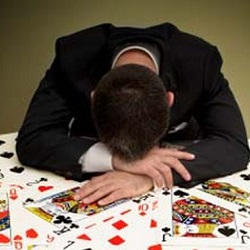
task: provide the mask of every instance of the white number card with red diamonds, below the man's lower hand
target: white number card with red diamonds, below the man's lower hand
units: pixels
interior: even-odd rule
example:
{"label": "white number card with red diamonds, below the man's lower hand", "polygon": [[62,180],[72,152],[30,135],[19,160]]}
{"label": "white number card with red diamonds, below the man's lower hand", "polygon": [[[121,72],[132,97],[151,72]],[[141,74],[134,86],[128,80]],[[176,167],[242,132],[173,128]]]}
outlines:
{"label": "white number card with red diamonds, below the man's lower hand", "polygon": [[106,210],[98,219],[93,216],[81,220],[78,229],[65,234],[66,237],[59,236],[49,249],[148,249],[156,245],[157,200],[153,193],[117,208]]}

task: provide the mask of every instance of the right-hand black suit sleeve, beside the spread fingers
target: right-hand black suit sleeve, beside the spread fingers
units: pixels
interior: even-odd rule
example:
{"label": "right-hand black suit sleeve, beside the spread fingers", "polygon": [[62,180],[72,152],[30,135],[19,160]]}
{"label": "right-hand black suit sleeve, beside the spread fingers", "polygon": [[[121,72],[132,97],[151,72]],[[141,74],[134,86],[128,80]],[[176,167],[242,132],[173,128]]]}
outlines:
{"label": "right-hand black suit sleeve, beside the spread fingers", "polygon": [[246,168],[249,148],[240,109],[221,73],[222,59],[210,51],[203,72],[203,93],[195,115],[202,137],[186,148],[196,155],[194,161],[183,161],[192,180],[183,182],[174,173],[175,184],[191,187],[201,181],[222,177]]}

